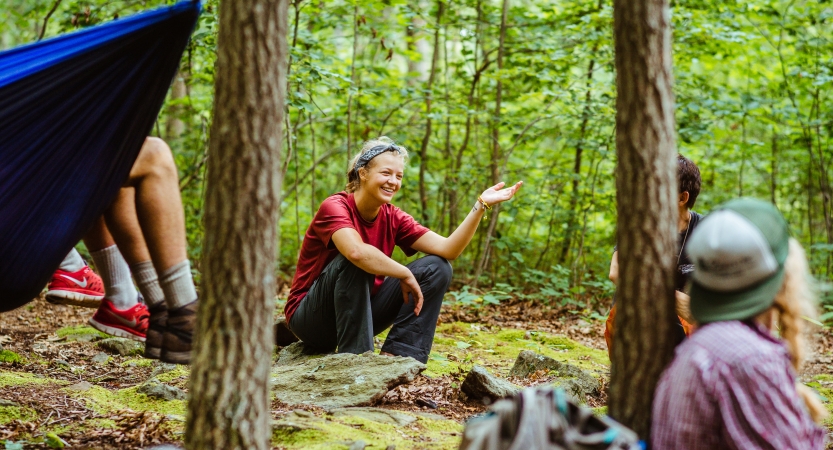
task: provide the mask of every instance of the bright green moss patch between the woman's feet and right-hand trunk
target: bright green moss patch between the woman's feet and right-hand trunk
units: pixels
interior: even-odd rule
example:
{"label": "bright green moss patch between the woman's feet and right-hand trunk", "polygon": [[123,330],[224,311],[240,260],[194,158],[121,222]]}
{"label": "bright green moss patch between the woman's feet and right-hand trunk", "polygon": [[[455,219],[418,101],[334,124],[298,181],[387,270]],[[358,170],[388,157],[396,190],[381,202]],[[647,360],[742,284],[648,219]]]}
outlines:
{"label": "bright green moss patch between the woman's feet and right-hand trunk", "polygon": [[473,364],[480,364],[502,367],[501,375],[506,375],[522,350],[531,350],[591,373],[607,371],[610,364],[606,352],[585,347],[563,336],[525,330],[493,332],[478,325],[449,323],[437,327],[425,374],[454,374],[461,366],[467,370]]}

